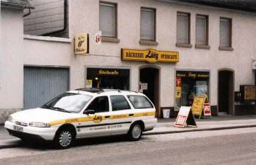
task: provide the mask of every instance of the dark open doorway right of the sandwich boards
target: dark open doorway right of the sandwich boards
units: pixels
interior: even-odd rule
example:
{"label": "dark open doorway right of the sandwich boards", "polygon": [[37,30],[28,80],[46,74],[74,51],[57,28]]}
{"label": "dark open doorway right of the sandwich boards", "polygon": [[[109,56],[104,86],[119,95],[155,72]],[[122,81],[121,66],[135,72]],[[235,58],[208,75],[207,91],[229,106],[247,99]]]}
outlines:
{"label": "dark open doorway right of the sandwich boards", "polygon": [[234,109],[234,73],[218,71],[218,115],[233,114]]}

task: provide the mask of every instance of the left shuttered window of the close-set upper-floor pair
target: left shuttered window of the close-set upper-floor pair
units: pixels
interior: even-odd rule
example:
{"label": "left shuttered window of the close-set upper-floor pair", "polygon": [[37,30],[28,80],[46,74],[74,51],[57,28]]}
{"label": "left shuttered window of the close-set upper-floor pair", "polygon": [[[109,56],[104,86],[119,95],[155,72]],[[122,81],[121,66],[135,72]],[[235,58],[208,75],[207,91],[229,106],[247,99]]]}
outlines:
{"label": "left shuttered window of the close-set upper-floor pair", "polygon": [[177,44],[190,44],[189,13],[177,13]]}

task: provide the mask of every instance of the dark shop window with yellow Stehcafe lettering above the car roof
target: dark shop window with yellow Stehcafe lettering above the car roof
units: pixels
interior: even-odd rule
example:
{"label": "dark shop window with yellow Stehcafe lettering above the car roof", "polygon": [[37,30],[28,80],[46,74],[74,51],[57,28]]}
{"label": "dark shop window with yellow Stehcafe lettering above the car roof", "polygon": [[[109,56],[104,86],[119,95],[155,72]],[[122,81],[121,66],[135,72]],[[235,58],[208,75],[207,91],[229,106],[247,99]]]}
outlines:
{"label": "dark shop window with yellow Stehcafe lettering above the car roof", "polygon": [[130,70],[87,68],[87,88],[130,89]]}

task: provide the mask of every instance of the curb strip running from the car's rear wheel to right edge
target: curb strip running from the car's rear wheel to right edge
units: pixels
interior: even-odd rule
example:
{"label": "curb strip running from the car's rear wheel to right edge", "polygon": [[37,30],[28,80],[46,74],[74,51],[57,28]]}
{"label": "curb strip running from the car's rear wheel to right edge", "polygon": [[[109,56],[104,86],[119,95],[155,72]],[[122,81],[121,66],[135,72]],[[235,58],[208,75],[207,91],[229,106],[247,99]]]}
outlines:
{"label": "curb strip running from the car's rear wheel to right edge", "polygon": [[224,129],[238,129],[238,128],[253,128],[256,125],[246,125],[246,126],[227,126],[227,127],[219,127],[219,128],[195,128],[195,129],[186,129],[181,131],[159,131],[159,132],[145,132],[143,135],[161,135],[161,134],[176,134],[183,132],[197,132],[197,131],[217,131]]}

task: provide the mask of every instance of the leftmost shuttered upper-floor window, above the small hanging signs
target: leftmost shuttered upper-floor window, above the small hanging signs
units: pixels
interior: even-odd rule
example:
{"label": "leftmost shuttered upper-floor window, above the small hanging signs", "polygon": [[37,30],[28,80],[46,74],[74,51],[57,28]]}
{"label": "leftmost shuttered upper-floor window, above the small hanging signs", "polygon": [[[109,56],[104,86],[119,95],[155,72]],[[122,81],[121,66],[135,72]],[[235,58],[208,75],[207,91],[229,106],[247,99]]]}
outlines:
{"label": "leftmost shuttered upper-floor window, above the small hanging signs", "polygon": [[102,37],[117,38],[116,4],[100,2],[100,30]]}

